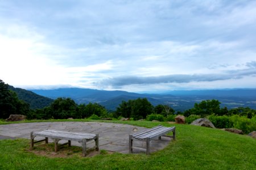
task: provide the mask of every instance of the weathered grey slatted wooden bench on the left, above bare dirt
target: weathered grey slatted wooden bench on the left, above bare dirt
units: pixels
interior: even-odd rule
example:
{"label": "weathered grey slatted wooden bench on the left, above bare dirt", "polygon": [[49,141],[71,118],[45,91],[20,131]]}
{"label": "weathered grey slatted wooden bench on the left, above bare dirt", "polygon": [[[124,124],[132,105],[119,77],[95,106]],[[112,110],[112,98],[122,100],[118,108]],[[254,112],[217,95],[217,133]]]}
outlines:
{"label": "weathered grey slatted wooden bench on the left, above bare dirt", "polygon": [[[40,141],[34,141],[36,136],[45,137],[45,139]],[[96,151],[98,151],[98,134],[90,134],[90,133],[74,133],[70,131],[59,131],[59,130],[43,130],[34,133],[33,131],[30,133],[30,148],[34,147],[34,143],[46,141],[48,143],[48,138],[52,138],[55,145],[55,152],[57,152],[57,144],[60,140],[67,140],[68,143],[64,143],[63,145],[71,146],[71,141],[77,141],[82,146],[82,156],[86,155],[86,142],[92,141],[94,139],[96,143]]]}

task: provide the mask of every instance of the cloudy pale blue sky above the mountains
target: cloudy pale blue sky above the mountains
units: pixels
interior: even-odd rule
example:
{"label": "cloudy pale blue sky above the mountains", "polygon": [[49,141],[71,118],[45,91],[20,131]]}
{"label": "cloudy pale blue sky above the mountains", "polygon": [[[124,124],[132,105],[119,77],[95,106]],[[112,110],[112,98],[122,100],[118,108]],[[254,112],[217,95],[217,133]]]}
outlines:
{"label": "cloudy pale blue sky above the mountains", "polygon": [[256,1],[0,0],[0,79],[26,89],[256,88]]}

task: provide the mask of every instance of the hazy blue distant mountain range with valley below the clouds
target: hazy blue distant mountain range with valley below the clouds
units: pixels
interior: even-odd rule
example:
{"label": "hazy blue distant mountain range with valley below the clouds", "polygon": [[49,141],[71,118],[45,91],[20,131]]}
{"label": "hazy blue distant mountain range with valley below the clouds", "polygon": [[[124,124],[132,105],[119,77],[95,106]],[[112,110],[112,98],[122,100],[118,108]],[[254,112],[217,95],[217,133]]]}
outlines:
{"label": "hazy blue distant mountain range with valley below the clouds", "polygon": [[185,111],[202,100],[219,100],[222,107],[250,107],[256,109],[256,89],[170,91],[164,94],[137,94],[126,91],[104,91],[88,88],[59,88],[55,90],[31,90],[51,99],[70,97],[77,104],[99,103],[115,110],[122,101],[147,98],[153,105],[167,104],[175,111]]}

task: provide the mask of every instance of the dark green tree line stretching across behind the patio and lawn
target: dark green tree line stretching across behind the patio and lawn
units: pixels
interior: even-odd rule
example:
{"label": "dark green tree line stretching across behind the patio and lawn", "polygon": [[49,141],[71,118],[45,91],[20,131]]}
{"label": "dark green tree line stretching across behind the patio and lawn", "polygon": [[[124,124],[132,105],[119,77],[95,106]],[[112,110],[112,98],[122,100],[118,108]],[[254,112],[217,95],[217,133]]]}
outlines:
{"label": "dark green tree line stretching across behind the patio and lawn", "polygon": [[189,117],[197,115],[205,117],[211,114],[216,116],[232,116],[234,114],[252,118],[256,116],[256,111],[250,108],[220,108],[218,100],[203,100],[195,103],[194,107],[184,112],[175,112],[168,105],[159,104],[155,107],[146,99],[135,99],[122,101],[114,112],[109,112],[100,104],[76,104],[71,98],[60,97],[54,100],[48,107],[43,109],[30,109],[30,105],[23,100],[19,100],[16,93],[8,88],[0,79],[0,118],[8,118],[10,114],[24,114],[28,119],[66,119],[66,118],[118,118],[126,117],[133,120],[174,120],[176,114]]}

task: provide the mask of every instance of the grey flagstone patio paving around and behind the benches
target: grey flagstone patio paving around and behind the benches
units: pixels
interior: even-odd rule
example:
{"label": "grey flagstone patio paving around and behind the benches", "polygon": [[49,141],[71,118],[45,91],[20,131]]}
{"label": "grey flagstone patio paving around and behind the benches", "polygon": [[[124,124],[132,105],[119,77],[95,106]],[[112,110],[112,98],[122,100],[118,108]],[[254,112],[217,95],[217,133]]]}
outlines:
{"label": "grey flagstone patio paving around and behind the benches", "polygon": [[[0,125],[0,139],[30,139],[31,131],[36,132],[46,129],[73,131],[80,133],[98,133],[100,150],[127,154],[129,152],[129,134],[142,131],[146,128],[133,125],[104,122],[33,122]],[[40,140],[43,138],[36,137],[35,139]],[[151,141],[151,152],[162,150],[168,145],[170,141],[171,138],[167,137],[162,137],[161,140]],[[52,142],[52,140],[49,139],[49,142]],[[59,143],[65,142],[67,141],[60,141]],[[81,146],[78,142],[73,141],[72,145]],[[94,141],[88,142],[88,147],[93,147],[94,145]],[[146,142],[134,141],[134,146],[146,148]],[[141,151],[134,150],[134,152],[136,153]]]}

